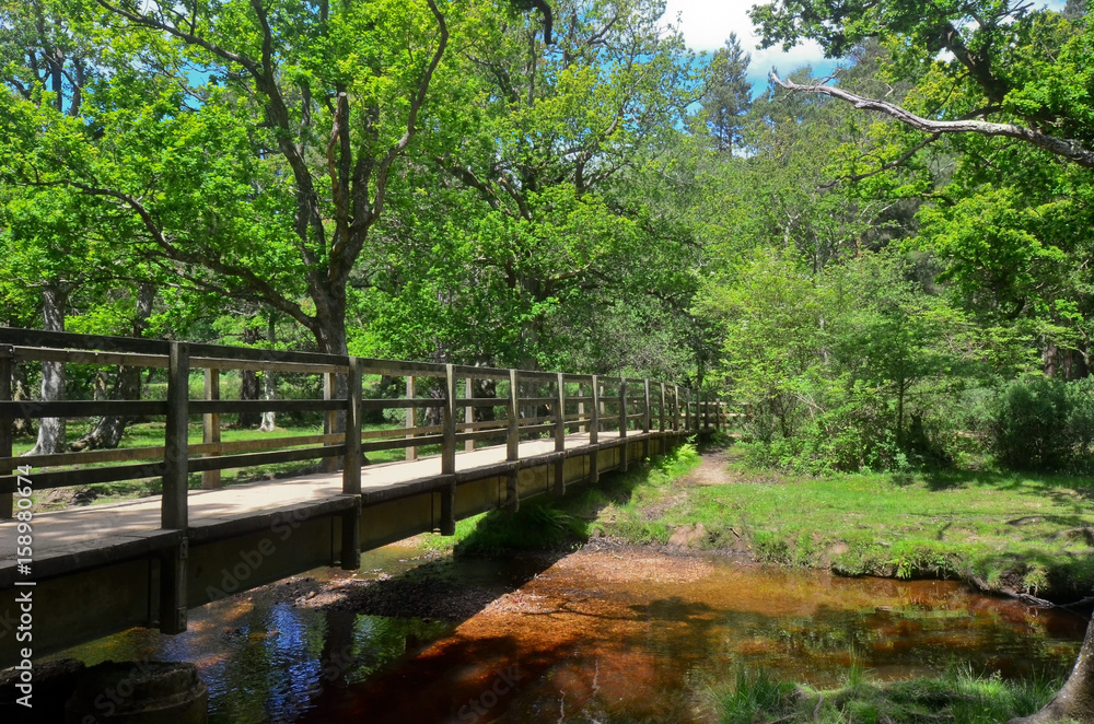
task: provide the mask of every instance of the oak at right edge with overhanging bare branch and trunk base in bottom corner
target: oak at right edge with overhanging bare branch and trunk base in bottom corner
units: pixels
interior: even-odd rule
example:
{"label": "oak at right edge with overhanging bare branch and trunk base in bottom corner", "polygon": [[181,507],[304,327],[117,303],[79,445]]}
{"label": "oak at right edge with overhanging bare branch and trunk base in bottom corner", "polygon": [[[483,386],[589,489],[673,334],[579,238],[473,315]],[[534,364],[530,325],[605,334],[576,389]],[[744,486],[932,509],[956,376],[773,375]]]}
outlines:
{"label": "oak at right edge with overhanging bare branch and trunk base in bottom corner", "polygon": [[[1071,323],[1079,339],[1069,341],[1089,369],[1094,310],[1083,259],[1090,248],[1078,230],[1090,227],[1094,188],[1094,118],[1089,113],[1094,26],[1086,22],[1084,4],[1070,3],[1059,14],[1016,0],[927,5],[779,0],[754,8],[752,17],[765,46],[812,38],[838,57],[868,37],[886,43],[891,77],[916,83],[916,93],[903,105],[825,83],[772,80],[928,133],[853,177],[882,173],[948,140],[958,159],[955,183],[929,217],[933,229],[928,236],[948,261],[946,275],[977,294],[981,308],[997,318],[1037,315]],[[979,290],[973,283],[976,276],[988,278]],[[1045,340],[1046,358],[1055,360],[1058,341]],[[1094,622],[1063,689],[1024,721],[1094,716],[1092,658]]]}

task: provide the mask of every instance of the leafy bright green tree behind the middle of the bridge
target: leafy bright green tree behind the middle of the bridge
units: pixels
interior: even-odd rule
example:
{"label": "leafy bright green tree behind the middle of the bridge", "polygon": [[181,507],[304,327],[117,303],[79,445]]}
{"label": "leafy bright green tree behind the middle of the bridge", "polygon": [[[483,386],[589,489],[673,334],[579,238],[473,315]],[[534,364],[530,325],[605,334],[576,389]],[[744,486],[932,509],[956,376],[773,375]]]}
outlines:
{"label": "leafy bright green tree behind the middle of the bridge", "polygon": [[[357,280],[358,316],[374,320],[359,349],[571,366],[598,323],[626,337],[687,310],[695,238],[636,190],[673,173],[700,92],[662,11],[571,0],[554,3],[552,46],[537,19],[496,12],[454,39],[427,113],[438,131],[420,139],[427,162],[393,182],[383,241]],[[673,357],[667,336],[648,359]],[[604,372],[625,364],[591,357]]]}

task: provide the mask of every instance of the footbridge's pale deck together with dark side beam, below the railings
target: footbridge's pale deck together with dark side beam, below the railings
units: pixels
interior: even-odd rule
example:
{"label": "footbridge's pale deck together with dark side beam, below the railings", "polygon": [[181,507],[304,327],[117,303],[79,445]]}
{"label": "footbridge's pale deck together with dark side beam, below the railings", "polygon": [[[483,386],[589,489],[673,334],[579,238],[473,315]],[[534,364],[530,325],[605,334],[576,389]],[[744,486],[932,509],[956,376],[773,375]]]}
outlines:
{"label": "footbridge's pale deck together with dark side beam, below the railings", "polygon": [[[0,667],[21,661],[24,649],[37,658],[132,627],[185,629],[186,608],[321,565],[354,569],[361,550],[562,493],[682,439],[617,435],[601,432],[595,445],[585,433],[568,435],[565,451],[551,440],[524,442],[517,460],[505,459],[504,446],[480,448],[457,455],[454,475],[440,474],[439,458],[368,466],[360,495],[342,494],[341,474],[194,491],[185,532],[160,528],[159,498],[36,514],[33,586],[16,585],[25,576],[16,575],[15,526],[5,524]],[[20,631],[27,592],[33,623]],[[161,620],[167,599],[185,602],[174,621]]]}

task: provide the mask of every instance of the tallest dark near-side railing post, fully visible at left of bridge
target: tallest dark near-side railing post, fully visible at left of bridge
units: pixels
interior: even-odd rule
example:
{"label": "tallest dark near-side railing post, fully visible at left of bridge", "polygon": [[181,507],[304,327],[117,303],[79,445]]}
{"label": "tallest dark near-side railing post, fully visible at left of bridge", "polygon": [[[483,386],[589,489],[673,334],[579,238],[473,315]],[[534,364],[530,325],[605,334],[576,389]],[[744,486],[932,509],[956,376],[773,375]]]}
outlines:
{"label": "tallest dark near-side railing post, fully visible at left of bridge", "polygon": [[176,548],[164,551],[160,559],[160,631],[163,633],[182,633],[186,630],[189,358],[188,345],[171,342],[167,357],[167,423],[160,526],[181,530],[183,537]]}

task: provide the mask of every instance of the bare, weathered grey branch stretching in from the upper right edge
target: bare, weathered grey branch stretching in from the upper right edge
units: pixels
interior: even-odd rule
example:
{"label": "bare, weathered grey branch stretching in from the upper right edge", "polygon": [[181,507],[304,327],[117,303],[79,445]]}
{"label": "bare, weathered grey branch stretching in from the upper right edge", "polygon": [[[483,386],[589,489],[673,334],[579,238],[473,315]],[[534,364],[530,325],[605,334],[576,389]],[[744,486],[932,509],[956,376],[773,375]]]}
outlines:
{"label": "bare, weathered grey branch stretching in from the upper right edge", "polygon": [[783,81],[773,72],[771,73],[771,82],[788,91],[816,93],[818,95],[839,98],[840,101],[850,103],[860,110],[877,110],[926,133],[978,133],[980,136],[1013,138],[1048,151],[1054,155],[1067,159],[1084,168],[1094,168],[1094,151],[1084,148],[1079,141],[1048,136],[1032,128],[1014,124],[994,124],[987,120],[931,120],[929,118],[921,118],[898,105],[868,98],[833,85],[803,85],[793,81]]}

